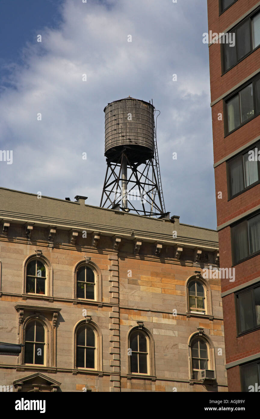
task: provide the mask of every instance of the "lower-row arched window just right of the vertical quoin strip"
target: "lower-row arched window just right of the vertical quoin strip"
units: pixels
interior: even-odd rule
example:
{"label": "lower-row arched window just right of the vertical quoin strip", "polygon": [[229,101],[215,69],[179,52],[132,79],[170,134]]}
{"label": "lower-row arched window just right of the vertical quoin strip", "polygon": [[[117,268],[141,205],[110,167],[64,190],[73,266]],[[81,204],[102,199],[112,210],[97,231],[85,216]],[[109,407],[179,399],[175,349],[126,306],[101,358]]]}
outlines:
{"label": "lower-row arched window just right of the vertical quoin strip", "polygon": [[130,372],[132,374],[149,374],[147,335],[140,330],[134,330],[130,334]]}

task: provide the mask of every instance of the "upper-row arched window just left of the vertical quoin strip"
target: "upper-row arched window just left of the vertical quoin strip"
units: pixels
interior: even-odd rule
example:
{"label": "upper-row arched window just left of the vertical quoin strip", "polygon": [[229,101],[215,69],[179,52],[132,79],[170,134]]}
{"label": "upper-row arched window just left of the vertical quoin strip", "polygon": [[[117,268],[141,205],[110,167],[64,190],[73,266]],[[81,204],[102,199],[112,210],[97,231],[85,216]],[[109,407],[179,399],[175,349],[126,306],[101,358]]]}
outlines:
{"label": "upper-row arched window just left of the vertical quoin strip", "polygon": [[81,265],[76,270],[76,298],[96,300],[96,281],[93,270]]}

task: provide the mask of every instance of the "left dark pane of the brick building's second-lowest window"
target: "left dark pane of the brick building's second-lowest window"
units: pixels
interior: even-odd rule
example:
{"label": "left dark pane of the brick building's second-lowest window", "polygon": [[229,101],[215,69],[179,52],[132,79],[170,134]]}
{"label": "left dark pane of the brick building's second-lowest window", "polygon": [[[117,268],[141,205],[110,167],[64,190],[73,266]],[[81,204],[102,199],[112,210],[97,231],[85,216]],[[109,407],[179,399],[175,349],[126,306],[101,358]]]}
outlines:
{"label": "left dark pane of the brick building's second-lowest window", "polygon": [[254,315],[251,290],[239,294],[237,303],[240,332],[252,329],[254,327]]}

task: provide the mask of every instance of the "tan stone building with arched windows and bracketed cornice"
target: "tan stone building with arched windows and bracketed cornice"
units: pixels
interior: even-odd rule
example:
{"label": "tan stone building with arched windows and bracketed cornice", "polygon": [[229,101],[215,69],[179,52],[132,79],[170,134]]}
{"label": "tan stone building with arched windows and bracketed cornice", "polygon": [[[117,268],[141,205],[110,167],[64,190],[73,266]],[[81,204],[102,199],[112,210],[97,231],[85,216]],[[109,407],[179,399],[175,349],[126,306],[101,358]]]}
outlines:
{"label": "tan stone building with arched windows and bracketed cornice", "polygon": [[0,384],[227,391],[217,232],[75,198],[0,188]]}

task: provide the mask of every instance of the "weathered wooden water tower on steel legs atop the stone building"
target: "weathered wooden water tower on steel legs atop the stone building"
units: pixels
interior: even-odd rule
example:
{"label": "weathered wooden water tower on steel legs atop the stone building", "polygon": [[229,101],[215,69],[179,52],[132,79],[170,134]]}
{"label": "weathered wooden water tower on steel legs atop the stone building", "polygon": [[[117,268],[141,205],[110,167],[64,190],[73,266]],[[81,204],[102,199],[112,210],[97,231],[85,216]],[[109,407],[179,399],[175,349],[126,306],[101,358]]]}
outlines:
{"label": "weathered wooden water tower on steel legs atop the stone building", "polygon": [[100,207],[168,217],[159,168],[153,104],[131,98],[105,112],[107,172]]}

